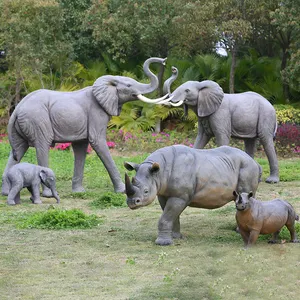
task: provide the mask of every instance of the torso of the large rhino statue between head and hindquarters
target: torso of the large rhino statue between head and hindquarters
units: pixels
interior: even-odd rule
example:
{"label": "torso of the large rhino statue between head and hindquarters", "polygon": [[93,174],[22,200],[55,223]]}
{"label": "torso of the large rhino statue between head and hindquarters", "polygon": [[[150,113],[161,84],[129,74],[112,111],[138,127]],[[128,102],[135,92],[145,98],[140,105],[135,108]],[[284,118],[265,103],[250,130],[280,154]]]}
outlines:
{"label": "torso of the large rhino statue between head and hindquarters", "polygon": [[158,195],[180,197],[196,207],[224,205],[232,199],[241,166],[230,149],[199,150],[177,145],[157,150],[147,160],[161,166]]}

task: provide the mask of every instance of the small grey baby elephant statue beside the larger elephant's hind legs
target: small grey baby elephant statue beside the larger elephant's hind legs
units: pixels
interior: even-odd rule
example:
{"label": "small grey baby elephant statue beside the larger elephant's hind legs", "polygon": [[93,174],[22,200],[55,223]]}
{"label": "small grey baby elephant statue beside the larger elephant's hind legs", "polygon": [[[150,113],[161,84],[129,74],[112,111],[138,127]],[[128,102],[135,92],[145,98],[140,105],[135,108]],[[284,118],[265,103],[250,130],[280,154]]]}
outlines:
{"label": "small grey baby elephant statue beside the larger elephant's hind legs", "polygon": [[7,172],[7,179],[9,183],[9,193],[7,197],[7,204],[15,205],[20,203],[20,191],[26,187],[31,193],[31,201],[34,204],[42,203],[40,199],[40,185],[43,183],[50,188],[56,202],[60,199],[56,191],[54,172],[45,167],[33,165],[30,163],[19,163],[12,166]]}

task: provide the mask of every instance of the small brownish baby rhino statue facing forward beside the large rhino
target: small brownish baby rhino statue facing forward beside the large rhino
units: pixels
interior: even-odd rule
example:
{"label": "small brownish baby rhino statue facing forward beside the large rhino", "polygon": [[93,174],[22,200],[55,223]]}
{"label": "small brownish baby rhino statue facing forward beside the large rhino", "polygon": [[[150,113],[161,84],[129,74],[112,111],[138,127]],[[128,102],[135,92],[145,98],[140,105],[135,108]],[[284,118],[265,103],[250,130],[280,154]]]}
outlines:
{"label": "small brownish baby rhino statue facing forward beside the large rhino", "polygon": [[291,234],[291,242],[299,242],[295,232],[295,220],[298,221],[299,216],[290,203],[281,199],[258,201],[253,198],[252,192],[239,194],[234,191],[233,195],[236,197],[236,221],[245,248],[255,244],[260,233],[273,233],[273,239],[269,243],[276,243],[284,225]]}

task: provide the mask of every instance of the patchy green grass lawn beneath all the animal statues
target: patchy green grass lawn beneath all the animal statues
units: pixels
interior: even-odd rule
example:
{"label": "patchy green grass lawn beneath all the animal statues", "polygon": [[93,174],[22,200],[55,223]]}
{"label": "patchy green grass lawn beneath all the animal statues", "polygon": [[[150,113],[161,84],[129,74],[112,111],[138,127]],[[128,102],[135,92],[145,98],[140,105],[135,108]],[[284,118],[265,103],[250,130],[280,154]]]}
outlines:
{"label": "patchy green grass lawn beneath all the animal statues", "polygon": [[[0,171],[9,147],[0,144]],[[141,162],[147,154],[114,160],[122,176],[125,160]],[[35,163],[30,149],[24,161]],[[265,158],[263,179],[268,175]],[[260,183],[257,198],[280,197],[300,213],[300,158],[280,159],[279,184]],[[73,156],[51,151],[61,204],[42,198],[33,205],[27,191],[21,204],[7,206],[0,196],[0,299],[297,299],[300,294],[300,244],[267,244],[243,250],[235,233],[233,203],[217,210],[187,208],[181,217],[185,238],[174,245],[154,244],[161,209],[157,201],[131,211],[124,205],[101,208],[113,187],[94,153],[87,156],[85,193],[71,192]],[[91,229],[26,229],[20,222],[49,209],[79,209],[101,222]],[[300,224],[297,231],[300,236]]]}

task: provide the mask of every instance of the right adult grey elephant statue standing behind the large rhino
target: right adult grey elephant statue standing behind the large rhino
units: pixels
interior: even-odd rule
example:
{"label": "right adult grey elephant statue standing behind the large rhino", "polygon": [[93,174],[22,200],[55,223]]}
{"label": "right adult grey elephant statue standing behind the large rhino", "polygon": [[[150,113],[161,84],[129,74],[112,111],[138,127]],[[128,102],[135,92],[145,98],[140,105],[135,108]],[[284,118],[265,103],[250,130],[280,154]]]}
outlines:
{"label": "right adult grey elephant statue standing behind the large rhino", "polygon": [[[170,90],[170,88],[167,88]],[[187,81],[170,95],[170,104],[184,104],[198,116],[198,134],[194,148],[202,149],[211,137],[218,146],[229,145],[230,137],[243,139],[245,151],[253,158],[256,140],[264,147],[270,165],[268,183],[279,182],[274,138],[276,112],[271,103],[254,92],[225,94],[214,81]]]}

